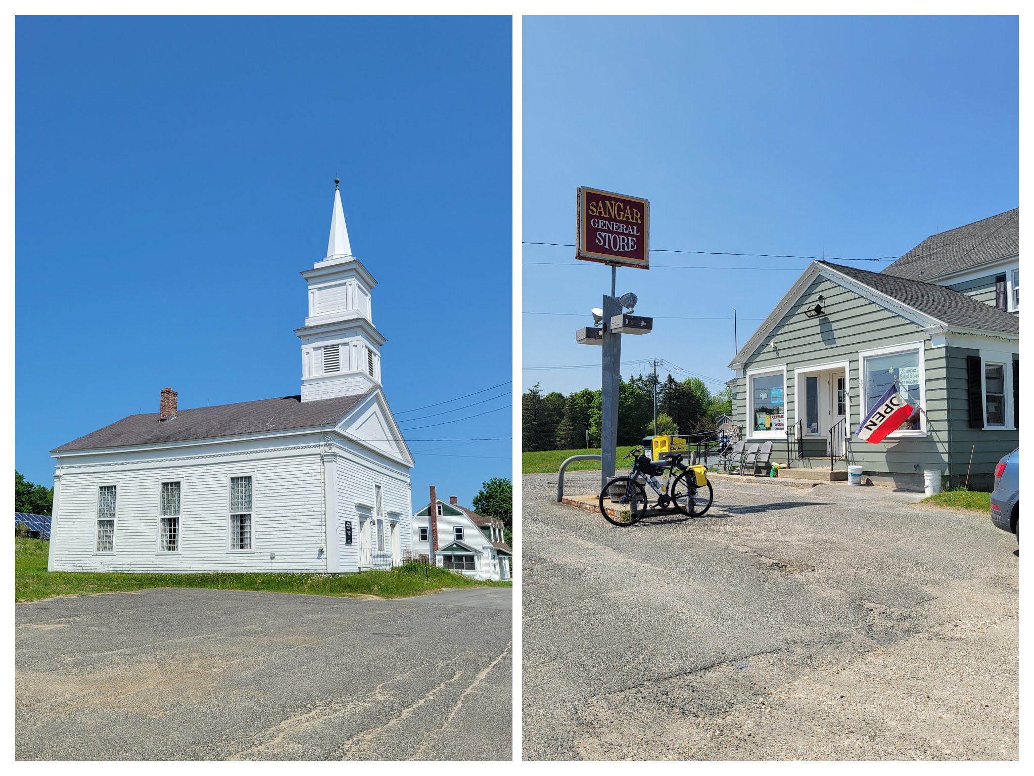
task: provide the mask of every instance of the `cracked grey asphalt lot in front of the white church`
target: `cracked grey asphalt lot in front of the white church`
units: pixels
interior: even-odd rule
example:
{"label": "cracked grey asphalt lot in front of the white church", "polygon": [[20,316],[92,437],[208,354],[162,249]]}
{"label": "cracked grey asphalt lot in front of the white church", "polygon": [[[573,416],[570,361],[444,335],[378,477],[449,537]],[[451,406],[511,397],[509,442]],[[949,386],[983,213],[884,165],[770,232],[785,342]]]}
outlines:
{"label": "cracked grey asphalt lot in front of the white church", "polygon": [[19,759],[510,759],[512,590],[16,606]]}

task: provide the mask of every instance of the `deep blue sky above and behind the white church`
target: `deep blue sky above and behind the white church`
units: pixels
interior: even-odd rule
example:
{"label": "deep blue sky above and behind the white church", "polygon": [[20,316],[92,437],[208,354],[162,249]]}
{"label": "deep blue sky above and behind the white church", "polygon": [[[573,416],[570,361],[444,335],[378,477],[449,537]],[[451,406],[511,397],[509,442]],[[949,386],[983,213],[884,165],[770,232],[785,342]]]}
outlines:
{"label": "deep blue sky above and behind the white church", "polygon": [[511,31],[20,18],[19,471],[51,484],[50,449],[157,412],[166,385],[181,408],[299,393],[299,272],[326,255],[339,175],[414,504],[510,476],[509,441],[444,441],[509,440],[509,385],[418,408],[512,375]]}

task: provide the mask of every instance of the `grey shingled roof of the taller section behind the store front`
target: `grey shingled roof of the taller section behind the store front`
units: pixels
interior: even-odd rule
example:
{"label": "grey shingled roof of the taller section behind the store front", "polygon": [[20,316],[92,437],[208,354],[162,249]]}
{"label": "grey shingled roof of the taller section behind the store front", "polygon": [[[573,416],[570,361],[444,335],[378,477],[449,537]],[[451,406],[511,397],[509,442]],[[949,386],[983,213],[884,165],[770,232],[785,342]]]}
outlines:
{"label": "grey shingled roof of the taller section behind the store front", "polygon": [[1020,255],[1020,208],[931,235],[883,270],[885,275],[931,280]]}

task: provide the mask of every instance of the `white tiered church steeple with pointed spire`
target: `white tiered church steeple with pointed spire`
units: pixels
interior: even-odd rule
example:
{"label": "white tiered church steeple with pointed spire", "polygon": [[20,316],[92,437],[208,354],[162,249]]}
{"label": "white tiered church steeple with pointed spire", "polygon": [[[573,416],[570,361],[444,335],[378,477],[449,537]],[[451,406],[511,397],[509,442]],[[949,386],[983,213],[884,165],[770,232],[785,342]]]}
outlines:
{"label": "white tiered church steeple with pointed spire", "polygon": [[302,340],[302,401],[364,393],[381,384],[381,346],[373,325],[371,291],[376,280],[352,255],[334,179],[334,209],[327,257],[302,272],[309,315],[295,329]]}

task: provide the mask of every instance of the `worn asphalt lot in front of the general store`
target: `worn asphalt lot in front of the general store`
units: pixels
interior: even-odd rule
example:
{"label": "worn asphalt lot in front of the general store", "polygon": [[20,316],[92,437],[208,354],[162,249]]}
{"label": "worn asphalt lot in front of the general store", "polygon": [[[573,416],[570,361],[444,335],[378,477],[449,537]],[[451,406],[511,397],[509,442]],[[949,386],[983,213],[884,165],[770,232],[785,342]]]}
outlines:
{"label": "worn asphalt lot in front of the general store", "polygon": [[525,758],[1017,757],[1018,557],[986,516],[721,481],[614,528],[523,482]]}

